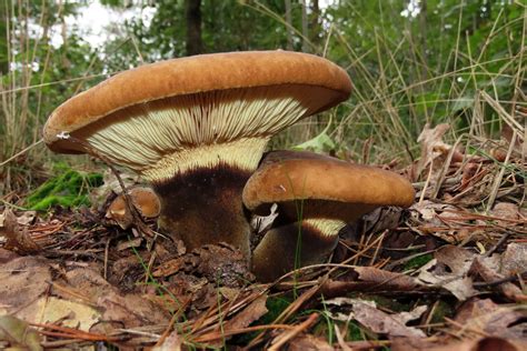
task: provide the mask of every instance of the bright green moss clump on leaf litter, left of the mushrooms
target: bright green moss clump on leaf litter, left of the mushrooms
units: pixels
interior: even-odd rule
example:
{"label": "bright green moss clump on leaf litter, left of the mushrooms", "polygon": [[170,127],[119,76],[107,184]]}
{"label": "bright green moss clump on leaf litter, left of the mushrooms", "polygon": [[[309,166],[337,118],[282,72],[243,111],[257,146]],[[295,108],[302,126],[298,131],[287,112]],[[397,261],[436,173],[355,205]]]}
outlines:
{"label": "bright green moss clump on leaf litter, left of the mushrooms", "polygon": [[58,164],[54,170],[61,174],[37,188],[27,198],[28,208],[48,210],[54,205],[71,208],[90,204],[89,190],[102,184],[102,176],[99,173],[78,172],[64,164]]}

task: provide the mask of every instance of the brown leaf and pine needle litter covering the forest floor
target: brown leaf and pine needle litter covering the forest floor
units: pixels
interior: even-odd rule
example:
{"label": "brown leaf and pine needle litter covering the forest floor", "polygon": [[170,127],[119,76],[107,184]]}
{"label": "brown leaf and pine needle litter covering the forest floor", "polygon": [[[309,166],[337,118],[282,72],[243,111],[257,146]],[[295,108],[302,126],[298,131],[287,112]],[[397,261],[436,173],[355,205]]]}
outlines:
{"label": "brown leaf and pine needle litter covering the forest floor", "polygon": [[187,252],[155,218],[109,211],[125,173],[91,209],[0,207],[0,349],[526,350],[521,140],[447,130],[426,127],[399,170],[411,208],[365,215],[327,264],[272,284],[227,244]]}

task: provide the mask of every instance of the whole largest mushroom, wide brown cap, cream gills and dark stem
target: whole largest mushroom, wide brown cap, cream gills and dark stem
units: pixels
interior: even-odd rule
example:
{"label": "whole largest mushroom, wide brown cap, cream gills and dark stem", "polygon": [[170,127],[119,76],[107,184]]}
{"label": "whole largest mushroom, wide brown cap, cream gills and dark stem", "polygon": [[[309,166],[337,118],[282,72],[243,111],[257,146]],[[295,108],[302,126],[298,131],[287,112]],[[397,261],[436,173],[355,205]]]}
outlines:
{"label": "whole largest mushroom, wide brown cap, cream gills and dark stem", "polygon": [[269,138],[350,89],[346,71],[311,54],[203,54],[116,74],[61,104],[43,134],[56,152],[89,144],[138,172],[160,198],[160,229],[189,249],[228,242],[248,254],[241,191]]}

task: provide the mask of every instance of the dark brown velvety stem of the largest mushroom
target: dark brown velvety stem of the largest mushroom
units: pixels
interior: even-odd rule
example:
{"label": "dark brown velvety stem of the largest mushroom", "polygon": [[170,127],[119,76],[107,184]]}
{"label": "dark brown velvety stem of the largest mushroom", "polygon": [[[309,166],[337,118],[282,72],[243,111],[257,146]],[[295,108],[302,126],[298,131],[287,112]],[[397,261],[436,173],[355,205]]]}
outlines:
{"label": "dark brown velvety stem of the largest mushroom", "polygon": [[218,164],[188,170],[153,189],[161,201],[159,228],[188,250],[227,242],[249,258],[250,227],[241,202],[247,170]]}

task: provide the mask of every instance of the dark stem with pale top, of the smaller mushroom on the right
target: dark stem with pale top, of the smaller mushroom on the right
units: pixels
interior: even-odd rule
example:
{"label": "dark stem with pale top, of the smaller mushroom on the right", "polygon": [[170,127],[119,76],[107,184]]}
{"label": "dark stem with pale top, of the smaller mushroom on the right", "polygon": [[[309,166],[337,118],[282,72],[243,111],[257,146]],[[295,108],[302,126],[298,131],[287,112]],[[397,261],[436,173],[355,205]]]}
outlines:
{"label": "dark stem with pale top, of the smaller mushroom on the right", "polygon": [[340,220],[304,220],[271,229],[252,252],[252,272],[274,281],[296,268],[324,262],[338,243]]}

